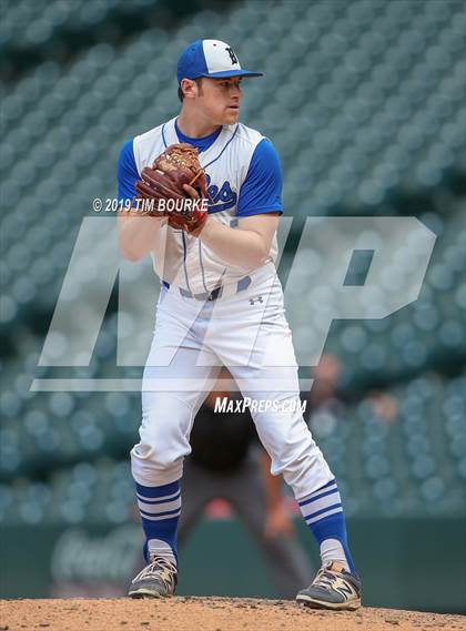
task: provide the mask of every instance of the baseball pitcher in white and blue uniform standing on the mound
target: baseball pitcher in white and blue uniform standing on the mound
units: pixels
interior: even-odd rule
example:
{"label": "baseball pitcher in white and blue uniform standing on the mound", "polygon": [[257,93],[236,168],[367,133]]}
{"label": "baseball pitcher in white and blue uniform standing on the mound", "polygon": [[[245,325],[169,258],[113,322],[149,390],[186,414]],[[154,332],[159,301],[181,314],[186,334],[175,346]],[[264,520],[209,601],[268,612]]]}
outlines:
{"label": "baseball pitcher in white and blue uniform standing on the mound", "polygon": [[[322,568],[296,599],[314,608],[354,610],[361,605],[361,581],[336,480],[302,416],[274,265],[283,212],[280,160],[267,139],[239,122],[241,82],[260,75],[242,69],[222,41],[191,43],[178,62],[180,114],[121,151],[119,197],[134,199],[134,206],[119,216],[120,248],[130,261],[150,253],[161,279],[143,375],[140,441],[131,451],[148,566],[129,594],[159,598],[175,591],[183,458],[191,451],[194,417],[224,365],[243,396],[256,401],[250,409],[271,472],[291,486],[320,545]],[[173,175],[184,143],[196,147],[201,169],[172,197],[202,199],[207,212],[194,204],[189,217],[145,216],[139,200],[159,203],[164,192],[170,196],[162,164]],[[195,387],[186,385],[193,380]]]}

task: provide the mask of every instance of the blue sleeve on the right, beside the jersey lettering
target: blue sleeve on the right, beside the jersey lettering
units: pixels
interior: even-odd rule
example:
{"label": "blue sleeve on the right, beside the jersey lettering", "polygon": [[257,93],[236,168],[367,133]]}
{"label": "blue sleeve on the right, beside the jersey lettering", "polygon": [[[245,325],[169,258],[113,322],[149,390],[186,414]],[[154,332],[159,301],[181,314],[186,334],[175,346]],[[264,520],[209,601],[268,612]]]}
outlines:
{"label": "blue sleeve on the right, beside the jersey lettering", "polygon": [[262,213],[283,213],[282,167],[273,144],[262,140],[251,159],[246,179],[240,190],[237,216],[250,217]]}

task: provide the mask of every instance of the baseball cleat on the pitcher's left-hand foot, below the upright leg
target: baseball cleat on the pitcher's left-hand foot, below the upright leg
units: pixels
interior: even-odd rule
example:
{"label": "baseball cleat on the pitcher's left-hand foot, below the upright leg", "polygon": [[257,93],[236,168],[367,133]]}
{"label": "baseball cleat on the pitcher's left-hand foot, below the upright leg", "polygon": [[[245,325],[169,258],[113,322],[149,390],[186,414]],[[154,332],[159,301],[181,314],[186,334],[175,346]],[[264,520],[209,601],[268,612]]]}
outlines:
{"label": "baseball cleat on the pitcher's left-hand foot, below the upright leg", "polygon": [[131,598],[166,598],[173,596],[178,582],[176,566],[164,557],[152,557],[151,562],[133,579],[128,596]]}

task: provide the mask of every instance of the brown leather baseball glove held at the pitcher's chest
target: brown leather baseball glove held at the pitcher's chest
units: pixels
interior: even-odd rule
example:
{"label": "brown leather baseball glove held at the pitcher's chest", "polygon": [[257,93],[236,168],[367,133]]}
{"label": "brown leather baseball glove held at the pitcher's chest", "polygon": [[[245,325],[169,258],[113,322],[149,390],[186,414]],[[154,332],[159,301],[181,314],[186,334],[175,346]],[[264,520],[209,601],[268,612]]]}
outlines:
{"label": "brown leather baseball glove held at the pitcher's chest", "polygon": [[[183,189],[184,184],[193,186],[200,199],[193,200]],[[142,170],[135,189],[140,195],[136,201],[141,214],[168,216],[171,227],[189,233],[201,232],[207,218],[202,204],[207,196],[207,183],[195,146],[171,144],[151,167]]]}

